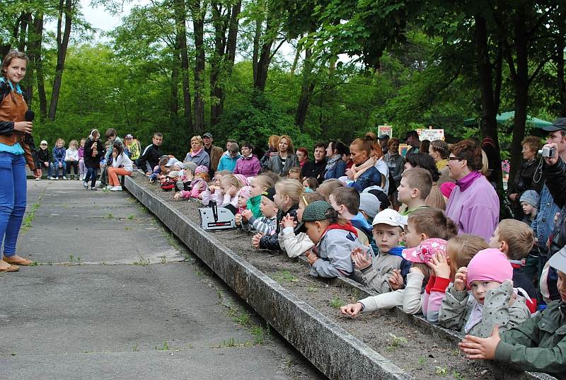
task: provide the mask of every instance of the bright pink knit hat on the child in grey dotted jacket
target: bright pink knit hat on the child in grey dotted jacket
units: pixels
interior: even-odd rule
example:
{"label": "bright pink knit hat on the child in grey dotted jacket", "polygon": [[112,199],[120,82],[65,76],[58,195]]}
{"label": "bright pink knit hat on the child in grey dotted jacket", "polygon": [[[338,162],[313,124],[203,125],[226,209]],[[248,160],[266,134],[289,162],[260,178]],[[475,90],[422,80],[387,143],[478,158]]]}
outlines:
{"label": "bright pink knit hat on the child in grey dotted jacket", "polygon": [[495,248],[487,248],[475,254],[468,264],[468,287],[472,281],[513,280],[513,267],[507,256]]}

